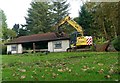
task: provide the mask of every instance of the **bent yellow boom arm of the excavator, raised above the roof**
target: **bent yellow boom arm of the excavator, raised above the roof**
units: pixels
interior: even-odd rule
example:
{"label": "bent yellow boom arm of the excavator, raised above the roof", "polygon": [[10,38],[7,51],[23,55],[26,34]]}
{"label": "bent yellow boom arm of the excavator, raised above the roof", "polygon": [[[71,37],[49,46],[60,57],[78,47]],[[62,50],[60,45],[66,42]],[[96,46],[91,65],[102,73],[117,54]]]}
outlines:
{"label": "bent yellow boom arm of the excavator, raised above the roof", "polygon": [[63,25],[66,22],[68,22],[68,24],[70,24],[72,27],[74,27],[77,30],[77,32],[79,32],[83,36],[82,27],[80,25],[78,25],[74,20],[71,20],[69,16],[66,16],[64,19],[62,19],[58,23],[57,28],[59,28],[59,26]]}

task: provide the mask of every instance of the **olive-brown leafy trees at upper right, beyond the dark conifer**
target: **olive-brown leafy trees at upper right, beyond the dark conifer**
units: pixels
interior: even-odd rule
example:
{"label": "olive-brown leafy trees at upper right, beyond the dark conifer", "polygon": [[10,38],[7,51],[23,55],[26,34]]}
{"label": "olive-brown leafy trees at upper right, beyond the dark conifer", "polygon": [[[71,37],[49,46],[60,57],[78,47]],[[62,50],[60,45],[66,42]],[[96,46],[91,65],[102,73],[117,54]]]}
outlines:
{"label": "olive-brown leafy trees at upper right, beyond the dark conifer", "polygon": [[118,3],[86,3],[85,6],[93,17],[91,28],[96,37],[105,40],[117,37]]}

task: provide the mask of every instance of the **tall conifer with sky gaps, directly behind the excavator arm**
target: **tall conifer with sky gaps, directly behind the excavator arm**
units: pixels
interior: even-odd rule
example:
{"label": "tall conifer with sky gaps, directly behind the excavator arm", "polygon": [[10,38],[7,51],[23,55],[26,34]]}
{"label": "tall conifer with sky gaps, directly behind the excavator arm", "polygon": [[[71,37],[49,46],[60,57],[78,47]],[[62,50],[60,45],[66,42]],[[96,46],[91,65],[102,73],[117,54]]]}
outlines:
{"label": "tall conifer with sky gaps, directly behind the excavator arm", "polygon": [[[56,0],[52,4],[52,12],[53,12],[53,25],[58,24],[62,19],[64,19],[67,15],[69,15],[69,3],[66,0]],[[55,30],[57,27],[53,27]],[[69,24],[64,24],[60,27],[61,31],[64,31],[70,34],[73,31],[73,28]]]}

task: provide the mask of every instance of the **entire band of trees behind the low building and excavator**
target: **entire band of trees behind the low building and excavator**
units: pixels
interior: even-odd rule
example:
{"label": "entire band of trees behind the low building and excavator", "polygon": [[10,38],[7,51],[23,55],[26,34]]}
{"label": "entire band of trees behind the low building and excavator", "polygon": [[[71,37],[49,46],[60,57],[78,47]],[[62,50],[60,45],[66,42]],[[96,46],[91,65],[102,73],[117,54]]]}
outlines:
{"label": "entire band of trees behind the low building and excavator", "polygon": [[[70,5],[67,0],[61,2],[31,2],[26,24],[15,24],[7,27],[4,11],[0,11],[2,19],[3,41],[12,40],[19,36],[55,32],[54,25],[65,16],[69,15]],[[120,3],[118,2],[86,2],[80,6],[79,16],[74,20],[82,26],[84,35],[90,35],[94,43],[102,43],[106,40],[119,39]],[[10,29],[12,28],[12,29]],[[62,31],[69,35],[76,31],[69,24],[61,26]]]}

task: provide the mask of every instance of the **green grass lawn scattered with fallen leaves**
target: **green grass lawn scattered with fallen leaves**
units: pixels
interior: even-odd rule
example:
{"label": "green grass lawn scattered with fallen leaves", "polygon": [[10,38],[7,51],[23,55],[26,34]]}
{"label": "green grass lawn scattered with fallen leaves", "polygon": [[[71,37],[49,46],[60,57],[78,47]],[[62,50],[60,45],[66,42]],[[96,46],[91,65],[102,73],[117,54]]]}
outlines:
{"label": "green grass lawn scattered with fallen leaves", "polygon": [[2,56],[3,81],[118,81],[117,52]]}

